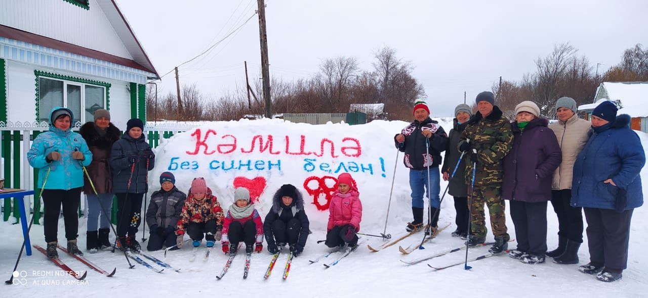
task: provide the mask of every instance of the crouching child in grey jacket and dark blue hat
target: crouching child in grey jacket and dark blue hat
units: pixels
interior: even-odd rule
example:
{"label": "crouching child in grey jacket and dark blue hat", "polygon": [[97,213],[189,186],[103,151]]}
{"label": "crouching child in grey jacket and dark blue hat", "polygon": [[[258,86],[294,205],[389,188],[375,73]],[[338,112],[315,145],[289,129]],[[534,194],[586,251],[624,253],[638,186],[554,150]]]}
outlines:
{"label": "crouching child in grey jacket and dark blue hat", "polygon": [[146,244],[148,251],[176,245],[176,224],[187,199],[187,195],[174,185],[176,177],[172,173],[162,173],[160,184],[161,189],[151,195],[151,202],[146,209],[146,224],[151,232]]}

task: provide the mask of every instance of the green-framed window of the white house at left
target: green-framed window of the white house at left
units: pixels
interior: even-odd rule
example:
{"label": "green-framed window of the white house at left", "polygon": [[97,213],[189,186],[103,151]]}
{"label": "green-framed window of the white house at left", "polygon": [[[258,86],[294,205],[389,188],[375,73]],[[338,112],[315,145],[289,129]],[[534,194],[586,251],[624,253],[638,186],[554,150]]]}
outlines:
{"label": "green-framed window of the white house at left", "polygon": [[36,118],[38,122],[49,122],[53,107],[67,107],[74,116],[73,125],[93,120],[98,109],[109,109],[108,90],[110,84],[83,80],[36,70]]}

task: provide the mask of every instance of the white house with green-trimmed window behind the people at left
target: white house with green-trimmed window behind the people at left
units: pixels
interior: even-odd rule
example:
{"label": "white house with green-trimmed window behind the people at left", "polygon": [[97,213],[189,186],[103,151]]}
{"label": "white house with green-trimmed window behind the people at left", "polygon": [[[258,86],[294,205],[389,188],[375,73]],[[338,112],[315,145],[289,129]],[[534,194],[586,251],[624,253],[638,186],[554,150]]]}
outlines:
{"label": "white house with green-trimmed window behind the people at left", "polygon": [[54,106],[80,123],[99,108],[124,129],[146,119],[159,75],[114,0],[0,1],[0,122],[46,122]]}

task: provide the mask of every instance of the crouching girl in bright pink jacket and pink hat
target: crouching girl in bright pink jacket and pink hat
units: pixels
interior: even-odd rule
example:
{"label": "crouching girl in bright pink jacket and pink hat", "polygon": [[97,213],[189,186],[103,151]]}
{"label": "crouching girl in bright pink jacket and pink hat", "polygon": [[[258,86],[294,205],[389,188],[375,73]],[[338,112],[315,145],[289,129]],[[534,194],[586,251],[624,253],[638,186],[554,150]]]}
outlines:
{"label": "crouching girl in bright pink jacket and pink hat", "polygon": [[329,212],[325,244],[335,249],[344,245],[355,248],[358,245],[356,233],[360,231],[362,220],[362,202],[351,174],[338,176],[338,190],[330,199]]}

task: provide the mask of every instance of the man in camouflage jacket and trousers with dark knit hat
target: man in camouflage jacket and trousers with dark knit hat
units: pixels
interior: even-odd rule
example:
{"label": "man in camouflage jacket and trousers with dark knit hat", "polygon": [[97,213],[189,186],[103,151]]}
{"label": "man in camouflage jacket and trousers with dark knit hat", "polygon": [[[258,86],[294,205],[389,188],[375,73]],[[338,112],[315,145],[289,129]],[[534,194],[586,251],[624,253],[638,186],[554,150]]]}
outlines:
{"label": "man in camouflage jacket and trousers with dark knit hat", "polygon": [[[503,159],[513,145],[511,123],[502,111],[494,105],[492,92],[481,92],[476,98],[478,112],[470,118],[467,127],[459,138],[459,151],[465,152],[470,160],[466,161],[466,182],[472,185],[472,167],[476,164],[470,226],[470,246],[481,244],[486,238],[484,203],[491,217],[492,233],[495,244],[493,253],[501,253],[508,247],[510,237],[506,228],[505,204],[502,198]],[[474,153],[476,150],[476,153]],[[469,193],[471,193],[469,191]],[[470,203],[469,203],[470,204]]]}

